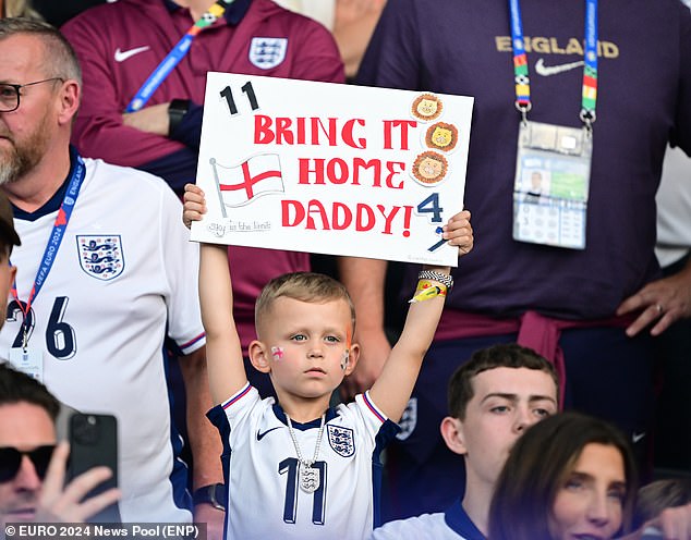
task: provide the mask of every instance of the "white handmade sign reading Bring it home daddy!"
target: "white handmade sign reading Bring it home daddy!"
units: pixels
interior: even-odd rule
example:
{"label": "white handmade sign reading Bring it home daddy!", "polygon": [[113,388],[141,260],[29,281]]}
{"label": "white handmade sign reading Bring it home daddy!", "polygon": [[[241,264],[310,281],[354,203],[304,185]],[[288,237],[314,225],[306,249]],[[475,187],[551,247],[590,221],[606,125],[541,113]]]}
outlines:
{"label": "white handmade sign reading Bring it home daddy!", "polygon": [[209,73],[192,240],[457,266],[473,99]]}

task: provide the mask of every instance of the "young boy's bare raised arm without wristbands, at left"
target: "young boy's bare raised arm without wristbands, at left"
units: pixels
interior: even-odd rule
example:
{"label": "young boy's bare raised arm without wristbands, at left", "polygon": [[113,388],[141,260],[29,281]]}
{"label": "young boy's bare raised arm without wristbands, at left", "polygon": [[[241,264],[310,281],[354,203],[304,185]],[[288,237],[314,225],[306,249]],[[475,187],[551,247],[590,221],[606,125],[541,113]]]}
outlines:
{"label": "young boy's bare raised arm without wristbands, at left", "polygon": [[[185,186],[185,224],[204,213],[204,194]],[[247,382],[242,347],[233,318],[233,293],[228,268],[228,247],[217,244],[199,246],[199,304],[206,332],[206,360],[214,405],[218,405]]]}

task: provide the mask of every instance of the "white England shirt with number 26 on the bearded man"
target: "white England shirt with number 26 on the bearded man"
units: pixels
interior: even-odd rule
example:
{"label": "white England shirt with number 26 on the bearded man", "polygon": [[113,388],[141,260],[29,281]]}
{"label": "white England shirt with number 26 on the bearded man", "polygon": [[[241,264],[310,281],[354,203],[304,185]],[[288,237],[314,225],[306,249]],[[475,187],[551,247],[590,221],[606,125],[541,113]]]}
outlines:
{"label": "white England shirt with number 26 on the bearded man", "polygon": [[[168,323],[183,354],[205,343],[198,246],[187,242],[182,205],[162,180],[84,161],[86,175],[65,236],[32,305],[28,346],[43,351],[44,382],[59,400],[118,418],[122,519],[189,521],[191,513],[173,503],[173,477],[180,495],[186,471],[171,446],[163,339]],[[11,261],[23,302],[57,217],[50,206],[44,207],[48,213],[31,214],[34,221],[15,211],[22,245]],[[10,297],[0,332],[2,359],[21,323]]]}

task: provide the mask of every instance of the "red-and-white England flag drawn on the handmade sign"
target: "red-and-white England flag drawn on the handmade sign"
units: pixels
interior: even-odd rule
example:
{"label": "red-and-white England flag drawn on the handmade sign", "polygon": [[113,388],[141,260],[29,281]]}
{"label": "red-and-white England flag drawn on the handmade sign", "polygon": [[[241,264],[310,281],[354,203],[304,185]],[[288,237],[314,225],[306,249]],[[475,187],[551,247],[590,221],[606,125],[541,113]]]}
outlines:
{"label": "red-and-white England flag drawn on the handmade sign", "polygon": [[277,154],[253,156],[237,167],[223,167],[214,158],[209,162],[222,206],[234,208],[247,205],[260,195],[284,193]]}

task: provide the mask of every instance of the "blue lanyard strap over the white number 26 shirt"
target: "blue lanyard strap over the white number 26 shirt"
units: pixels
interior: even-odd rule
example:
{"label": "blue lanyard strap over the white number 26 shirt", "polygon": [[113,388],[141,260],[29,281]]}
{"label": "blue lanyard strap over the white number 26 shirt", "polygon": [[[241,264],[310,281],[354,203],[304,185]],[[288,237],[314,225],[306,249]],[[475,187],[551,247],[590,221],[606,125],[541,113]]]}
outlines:
{"label": "blue lanyard strap over the white number 26 shirt", "polygon": [[36,278],[34,278],[34,285],[32,286],[32,291],[28,294],[26,306],[24,306],[22,302],[20,302],[19,293],[16,291],[16,281],[12,284],[12,296],[16,300],[20,309],[22,309],[22,314],[24,315],[24,320],[22,322],[24,331],[22,343],[24,348],[26,348],[27,343],[27,321],[29,320],[28,314],[32,309],[32,304],[36,299],[36,296],[38,296],[40,289],[44,286],[44,283],[48,279],[48,274],[50,273],[52,263],[58,256],[58,249],[60,249],[60,244],[62,243],[62,238],[64,237],[64,231],[66,230],[70,218],[72,217],[72,210],[74,210],[74,205],[76,204],[76,199],[80,196],[80,189],[82,188],[82,183],[84,182],[85,175],[86,167],[84,165],[84,161],[82,160],[82,158],[77,156],[74,170],[72,171],[72,175],[70,177],[70,184],[68,185],[68,191],[62,198],[62,204],[60,205],[60,209],[58,210],[56,222],[53,223],[52,231],[50,233],[50,236],[48,237],[48,244],[46,245],[46,249],[44,250],[44,257],[41,259],[40,266],[38,267],[38,271],[36,272]]}

